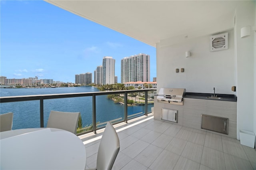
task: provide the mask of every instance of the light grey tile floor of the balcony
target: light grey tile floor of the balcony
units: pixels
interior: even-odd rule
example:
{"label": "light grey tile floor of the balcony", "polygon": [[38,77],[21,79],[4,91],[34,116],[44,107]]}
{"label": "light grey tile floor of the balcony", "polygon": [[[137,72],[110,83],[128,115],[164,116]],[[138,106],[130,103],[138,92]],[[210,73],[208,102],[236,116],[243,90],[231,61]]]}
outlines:
{"label": "light grey tile floor of the balcony", "polygon": [[[120,139],[114,170],[256,170],[256,150],[234,138],[156,121],[152,115],[114,127]],[[96,167],[96,137],[102,135],[97,133],[80,136],[86,169]]]}

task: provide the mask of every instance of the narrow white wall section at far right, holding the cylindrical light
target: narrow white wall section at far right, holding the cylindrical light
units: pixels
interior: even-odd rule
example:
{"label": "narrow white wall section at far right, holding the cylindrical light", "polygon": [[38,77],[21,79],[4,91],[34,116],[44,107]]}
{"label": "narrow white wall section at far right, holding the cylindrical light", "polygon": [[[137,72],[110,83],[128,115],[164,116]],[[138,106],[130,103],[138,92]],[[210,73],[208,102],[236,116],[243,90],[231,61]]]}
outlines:
{"label": "narrow white wall section at far right, holding the cylindrical light", "polygon": [[240,38],[240,30],[244,26],[255,26],[255,1],[246,1],[236,9],[235,25],[235,55],[237,58],[237,136],[239,130],[248,130],[256,133],[255,111],[255,47],[254,32],[251,36]]}

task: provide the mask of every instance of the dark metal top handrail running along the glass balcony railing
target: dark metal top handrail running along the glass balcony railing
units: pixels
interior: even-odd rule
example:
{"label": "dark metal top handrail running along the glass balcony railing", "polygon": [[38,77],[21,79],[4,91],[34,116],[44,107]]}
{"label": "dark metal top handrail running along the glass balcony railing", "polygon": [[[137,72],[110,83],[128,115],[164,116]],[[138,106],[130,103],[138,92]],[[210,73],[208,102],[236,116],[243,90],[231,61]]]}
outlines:
{"label": "dark metal top handrail running along the glass balcony railing", "polygon": [[0,103],[18,102],[18,101],[32,101],[40,99],[60,99],[69,97],[87,97],[92,95],[112,95],[120,93],[134,93],[144,91],[156,91],[156,89],[135,89],[135,90],[116,90],[116,91],[96,91],[96,92],[82,92],[82,93],[59,93],[59,94],[45,94],[45,95],[22,95],[22,96],[3,96],[0,97]]}

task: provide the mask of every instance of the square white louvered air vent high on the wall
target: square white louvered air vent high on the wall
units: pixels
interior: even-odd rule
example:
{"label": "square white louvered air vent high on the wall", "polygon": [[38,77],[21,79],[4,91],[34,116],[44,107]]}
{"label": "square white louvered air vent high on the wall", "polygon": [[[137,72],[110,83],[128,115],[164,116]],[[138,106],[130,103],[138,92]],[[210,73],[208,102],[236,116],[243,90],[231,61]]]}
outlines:
{"label": "square white louvered air vent high on the wall", "polygon": [[228,33],[211,36],[210,51],[228,49]]}

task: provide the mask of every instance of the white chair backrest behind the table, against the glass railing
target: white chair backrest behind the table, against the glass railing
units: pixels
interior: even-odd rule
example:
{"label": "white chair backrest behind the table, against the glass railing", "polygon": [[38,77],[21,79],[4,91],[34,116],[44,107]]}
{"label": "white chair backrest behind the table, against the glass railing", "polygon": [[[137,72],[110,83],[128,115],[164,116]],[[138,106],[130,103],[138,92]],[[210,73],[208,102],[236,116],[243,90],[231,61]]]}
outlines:
{"label": "white chair backrest behind the table, against the glass railing", "polygon": [[80,112],[51,111],[48,119],[48,128],[59,128],[76,134]]}

